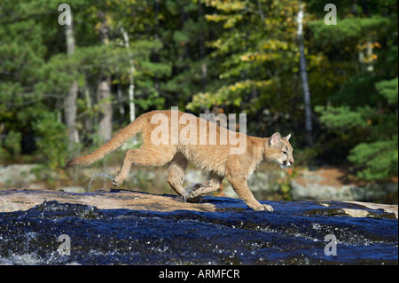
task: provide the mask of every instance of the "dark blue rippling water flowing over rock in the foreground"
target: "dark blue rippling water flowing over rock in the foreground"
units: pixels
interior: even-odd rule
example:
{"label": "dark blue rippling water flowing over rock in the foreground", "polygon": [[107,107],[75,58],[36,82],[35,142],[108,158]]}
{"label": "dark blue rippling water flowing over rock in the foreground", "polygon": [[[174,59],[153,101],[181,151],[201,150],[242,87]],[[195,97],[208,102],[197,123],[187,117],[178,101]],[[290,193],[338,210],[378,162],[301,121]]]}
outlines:
{"label": "dark blue rippling water flowing over rock in the foreground", "polygon": [[[255,212],[242,201],[205,197],[216,212],[98,209],[46,201],[0,213],[2,264],[397,264],[398,221],[340,213],[334,202],[267,201]],[[264,202],[265,203],[265,202]],[[335,210],[334,210],[335,209]],[[337,255],[325,255],[325,235]],[[59,253],[59,235],[71,255]]]}

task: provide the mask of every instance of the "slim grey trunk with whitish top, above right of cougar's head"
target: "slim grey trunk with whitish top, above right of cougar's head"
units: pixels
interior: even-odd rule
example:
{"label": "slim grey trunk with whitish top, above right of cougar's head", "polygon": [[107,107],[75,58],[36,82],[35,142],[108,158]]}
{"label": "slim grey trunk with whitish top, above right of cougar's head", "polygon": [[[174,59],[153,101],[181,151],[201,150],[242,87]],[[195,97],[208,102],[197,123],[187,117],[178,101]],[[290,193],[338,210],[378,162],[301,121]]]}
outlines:
{"label": "slim grey trunk with whitish top, above right of cougar's head", "polygon": [[310,101],[310,90],[308,83],[308,72],[306,70],[305,44],[303,43],[303,4],[300,4],[298,12],[298,41],[300,46],[300,74],[303,90],[303,102],[305,104],[305,130],[306,145],[313,145],[312,106]]}

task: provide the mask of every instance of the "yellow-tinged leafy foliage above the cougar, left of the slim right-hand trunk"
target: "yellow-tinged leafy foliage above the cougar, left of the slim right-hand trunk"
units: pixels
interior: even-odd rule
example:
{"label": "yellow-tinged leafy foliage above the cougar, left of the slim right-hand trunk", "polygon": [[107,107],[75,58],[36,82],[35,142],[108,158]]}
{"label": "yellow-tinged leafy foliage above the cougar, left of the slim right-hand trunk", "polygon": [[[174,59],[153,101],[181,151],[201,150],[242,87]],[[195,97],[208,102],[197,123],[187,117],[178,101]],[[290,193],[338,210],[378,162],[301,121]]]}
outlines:
{"label": "yellow-tinged leafy foliage above the cougar, left of the slim right-hand trunk", "polygon": [[214,8],[205,16],[217,31],[207,55],[213,62],[213,81],[186,107],[195,112],[215,107],[225,113],[246,113],[248,129],[258,136],[293,129],[290,118],[301,114],[293,103],[301,99],[296,91],[301,83],[296,75],[299,2],[200,2]]}

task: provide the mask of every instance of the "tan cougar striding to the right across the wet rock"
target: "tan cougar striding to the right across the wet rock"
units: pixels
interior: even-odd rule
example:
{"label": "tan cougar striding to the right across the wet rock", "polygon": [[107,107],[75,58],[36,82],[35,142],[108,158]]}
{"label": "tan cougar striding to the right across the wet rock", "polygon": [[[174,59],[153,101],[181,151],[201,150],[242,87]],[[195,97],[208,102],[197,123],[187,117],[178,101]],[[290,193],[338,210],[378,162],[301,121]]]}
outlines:
{"label": "tan cougar striding to the right across the wet rock", "polygon": [[[178,112],[179,119],[190,117],[197,122],[194,127],[190,122],[178,125],[178,132],[181,136],[177,144],[173,144],[171,135],[168,137],[166,145],[154,145],[152,141],[152,132],[160,123],[152,124],[154,114],[163,114],[168,117],[168,133],[171,130],[171,111],[153,111],[139,116],[134,122],[119,131],[110,141],[98,148],[93,153],[76,157],[67,162],[67,167],[88,166],[98,161],[114,149],[121,146],[129,138],[142,132],[143,145],[138,149],[130,149],[126,152],[125,158],[121,165],[119,174],[113,179],[113,185],[121,185],[128,177],[132,164],[146,166],[162,166],[168,163],[168,184],[178,195],[184,197],[188,201],[198,201],[200,195],[211,193],[217,190],[222,184],[223,177],[231,183],[234,191],[246,204],[254,210],[273,210],[269,205],[262,205],[254,199],[254,195],[249,191],[246,179],[254,172],[254,169],[261,161],[275,161],[282,168],[289,167],[293,164],[293,147],[288,142],[291,135],[281,138],[279,133],[274,133],[270,138],[256,138],[246,136],[242,133],[234,133],[236,138],[239,135],[246,139],[246,150],[242,154],[231,154],[231,148],[239,145],[231,145],[228,139],[226,145],[221,145],[221,135],[229,132],[228,130],[216,126],[216,145],[209,145],[209,122],[207,124],[207,144],[200,145],[200,121],[204,125],[204,120],[187,116],[182,112]],[[185,130],[197,130],[197,143],[189,143],[187,137],[182,133]],[[187,131],[185,132],[187,134]],[[182,186],[184,181],[184,170],[187,168],[188,162],[192,161],[195,166],[209,171],[209,183],[198,184],[190,190],[184,191]]]}

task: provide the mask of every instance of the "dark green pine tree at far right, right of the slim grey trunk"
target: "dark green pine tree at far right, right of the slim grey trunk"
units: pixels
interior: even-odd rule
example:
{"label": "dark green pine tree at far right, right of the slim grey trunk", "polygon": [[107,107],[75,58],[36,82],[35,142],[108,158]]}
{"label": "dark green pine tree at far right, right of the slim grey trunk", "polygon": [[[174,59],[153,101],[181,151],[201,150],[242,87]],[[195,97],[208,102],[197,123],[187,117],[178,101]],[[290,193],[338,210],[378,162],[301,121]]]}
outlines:
{"label": "dark green pine tree at far right, right of the slim grey trunk", "polygon": [[315,108],[327,132],[323,150],[340,165],[348,158],[365,180],[397,176],[397,3],[341,4],[338,22],[310,23],[312,47],[324,49],[328,67],[318,100],[327,106]]}

